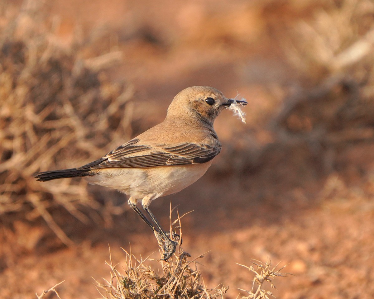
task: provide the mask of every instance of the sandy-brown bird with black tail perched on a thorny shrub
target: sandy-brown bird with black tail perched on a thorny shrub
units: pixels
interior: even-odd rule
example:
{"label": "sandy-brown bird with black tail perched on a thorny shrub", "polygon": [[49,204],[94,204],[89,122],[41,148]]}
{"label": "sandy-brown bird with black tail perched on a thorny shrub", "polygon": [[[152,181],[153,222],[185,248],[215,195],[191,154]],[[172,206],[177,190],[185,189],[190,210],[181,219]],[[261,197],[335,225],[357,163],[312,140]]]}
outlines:
{"label": "sandy-brown bird with black tail perched on a thorny shrub", "polygon": [[165,242],[162,260],[167,260],[174,254],[177,242],[161,228],[149,206],[156,198],[177,193],[204,175],[221,151],[214,120],[234,103],[248,104],[228,99],[214,87],[188,87],[174,97],[162,123],[98,160],[77,168],[39,172],[35,178],[45,182],[83,177],[89,184],[125,193],[129,206],[153,230],[159,243],[160,239]]}

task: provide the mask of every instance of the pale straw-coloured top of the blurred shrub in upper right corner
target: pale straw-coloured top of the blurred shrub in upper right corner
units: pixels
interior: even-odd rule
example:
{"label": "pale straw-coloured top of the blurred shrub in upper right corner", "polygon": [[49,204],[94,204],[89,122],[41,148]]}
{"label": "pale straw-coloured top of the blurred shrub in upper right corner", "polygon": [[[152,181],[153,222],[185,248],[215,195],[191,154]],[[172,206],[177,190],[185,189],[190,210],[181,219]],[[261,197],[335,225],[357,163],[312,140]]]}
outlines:
{"label": "pale straw-coloured top of the blurred shrub in upper right corner", "polygon": [[337,73],[359,75],[364,64],[373,62],[373,15],[370,0],[325,4],[311,20],[297,22],[291,36],[285,38],[289,61],[301,74],[317,81]]}

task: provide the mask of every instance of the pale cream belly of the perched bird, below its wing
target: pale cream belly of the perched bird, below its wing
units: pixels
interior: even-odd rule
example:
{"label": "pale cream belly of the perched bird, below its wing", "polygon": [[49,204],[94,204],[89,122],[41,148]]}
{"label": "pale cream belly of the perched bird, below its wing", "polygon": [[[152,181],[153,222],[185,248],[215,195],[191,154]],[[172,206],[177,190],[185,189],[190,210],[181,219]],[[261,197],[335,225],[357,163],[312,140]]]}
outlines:
{"label": "pale cream belly of the perched bird, below its wing", "polygon": [[211,164],[212,161],[154,168],[106,168],[85,179],[90,184],[114,188],[136,200],[142,200],[151,194],[157,198],[181,191],[196,182]]}

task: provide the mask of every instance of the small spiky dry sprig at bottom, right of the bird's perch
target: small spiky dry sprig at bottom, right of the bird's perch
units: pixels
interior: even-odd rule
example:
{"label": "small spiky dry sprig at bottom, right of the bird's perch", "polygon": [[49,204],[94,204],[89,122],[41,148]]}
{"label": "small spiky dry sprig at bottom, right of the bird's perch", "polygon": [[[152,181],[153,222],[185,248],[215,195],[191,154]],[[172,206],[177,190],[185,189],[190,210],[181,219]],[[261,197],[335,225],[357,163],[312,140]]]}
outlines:
{"label": "small spiky dry sprig at bottom, right of the bird's perch", "polygon": [[269,299],[269,295],[275,298],[272,292],[263,289],[263,285],[267,281],[270,283],[270,286],[273,289],[276,289],[272,279],[276,277],[285,277],[287,274],[289,274],[280,272],[285,266],[276,269],[279,263],[275,267],[272,267],[269,259],[266,261],[266,263],[255,260],[255,262],[252,262],[252,264],[254,266],[245,266],[237,263],[237,265],[247,268],[254,274],[254,278],[252,280],[252,289],[250,291],[239,289],[248,293],[248,296],[243,296],[242,299]]}

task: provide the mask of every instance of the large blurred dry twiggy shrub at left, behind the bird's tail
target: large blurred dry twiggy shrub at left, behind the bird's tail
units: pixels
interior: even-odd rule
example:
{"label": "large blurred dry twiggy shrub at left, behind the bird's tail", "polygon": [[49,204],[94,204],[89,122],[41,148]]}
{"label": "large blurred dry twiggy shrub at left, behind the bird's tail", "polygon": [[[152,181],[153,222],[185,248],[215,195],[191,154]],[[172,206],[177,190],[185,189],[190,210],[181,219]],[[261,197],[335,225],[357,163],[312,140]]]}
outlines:
{"label": "large blurred dry twiggy shrub at left, behind the bird's tail", "polygon": [[62,47],[58,22],[38,2],[25,2],[13,17],[6,4],[0,9],[0,215],[41,215],[70,244],[48,209],[63,206],[84,220],[77,207],[98,204],[84,181],[41,184],[33,174],[95,160],[119,136],[130,138],[132,90],[105,76],[119,52],[83,59],[87,42]]}

